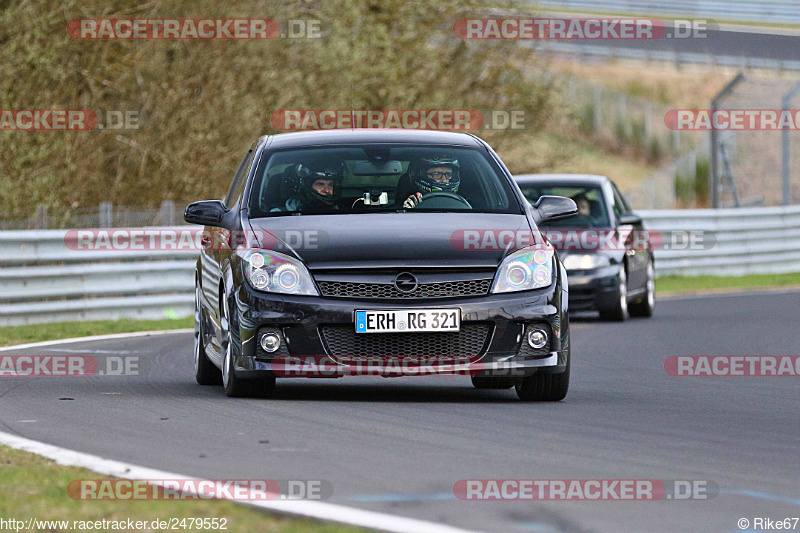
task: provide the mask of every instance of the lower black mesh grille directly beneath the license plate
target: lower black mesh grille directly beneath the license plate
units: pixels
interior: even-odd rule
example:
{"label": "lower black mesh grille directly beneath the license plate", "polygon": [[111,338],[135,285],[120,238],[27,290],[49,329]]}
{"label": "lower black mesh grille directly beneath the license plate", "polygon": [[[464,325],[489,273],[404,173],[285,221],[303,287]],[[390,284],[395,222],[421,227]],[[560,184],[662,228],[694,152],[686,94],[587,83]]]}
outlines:
{"label": "lower black mesh grille directly beneath the license plate", "polygon": [[322,326],[328,354],[347,359],[358,356],[478,357],[487,349],[490,324],[461,324],[451,333],[356,333],[353,326]]}

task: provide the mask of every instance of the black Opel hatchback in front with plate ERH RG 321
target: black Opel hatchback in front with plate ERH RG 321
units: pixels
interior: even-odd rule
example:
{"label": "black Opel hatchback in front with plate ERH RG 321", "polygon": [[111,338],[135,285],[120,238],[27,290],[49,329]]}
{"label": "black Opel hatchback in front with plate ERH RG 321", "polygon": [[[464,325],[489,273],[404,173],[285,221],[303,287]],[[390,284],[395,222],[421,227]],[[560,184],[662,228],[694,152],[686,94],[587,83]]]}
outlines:
{"label": "black Opel hatchback in front with plate ERH RG 321", "polygon": [[561,400],[571,359],[566,271],[536,224],[576,212],[566,198],[531,206],[470,134],[261,137],[226,197],[184,214],[206,226],[197,381],[268,396],[276,377],[296,375],[286,361],[338,377],[378,358],[388,377],[398,365],[447,372],[454,367],[430,361],[466,359],[477,388]]}

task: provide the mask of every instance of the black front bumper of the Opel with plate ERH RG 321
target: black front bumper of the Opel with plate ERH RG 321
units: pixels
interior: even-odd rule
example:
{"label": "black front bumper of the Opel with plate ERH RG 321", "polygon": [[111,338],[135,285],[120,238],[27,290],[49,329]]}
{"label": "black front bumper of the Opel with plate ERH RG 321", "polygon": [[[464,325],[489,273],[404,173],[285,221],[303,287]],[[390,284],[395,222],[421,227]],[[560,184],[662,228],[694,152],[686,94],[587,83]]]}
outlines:
{"label": "black front bumper of the Opel with plate ERH RG 321", "polygon": [[[372,301],[329,297],[289,296],[256,292],[242,283],[231,296],[232,327],[239,333],[234,342],[234,365],[237,376],[258,377],[274,372],[275,356],[257,347],[258,332],[268,327],[280,331],[285,346],[277,353],[283,356],[313,359],[329,366],[342,366],[341,358],[332,357],[322,328],[339,326],[355,331],[355,310],[437,308],[460,309],[462,330],[469,324],[490,325],[484,348],[469,356],[469,373],[485,376],[522,377],[536,372],[564,372],[568,350],[564,340],[569,335],[566,307],[562,305],[560,283],[536,291],[493,294],[469,298],[441,298],[409,301]],[[526,325],[541,324],[549,334],[549,345],[538,352],[523,349]],[[373,334],[387,335],[387,334]],[[408,334],[400,334],[408,335]],[[440,335],[440,334],[432,334]],[[236,336],[234,336],[234,340]],[[392,354],[403,359],[406,354]],[[460,357],[464,361],[465,357]],[[340,362],[337,362],[340,361]],[[347,365],[346,365],[347,366]],[[447,366],[435,366],[435,372],[452,373]],[[461,372],[464,373],[463,367]],[[343,372],[347,374],[348,372]],[[280,374],[277,374],[280,375]],[[406,374],[403,374],[406,375]],[[311,375],[309,377],[338,377]]]}

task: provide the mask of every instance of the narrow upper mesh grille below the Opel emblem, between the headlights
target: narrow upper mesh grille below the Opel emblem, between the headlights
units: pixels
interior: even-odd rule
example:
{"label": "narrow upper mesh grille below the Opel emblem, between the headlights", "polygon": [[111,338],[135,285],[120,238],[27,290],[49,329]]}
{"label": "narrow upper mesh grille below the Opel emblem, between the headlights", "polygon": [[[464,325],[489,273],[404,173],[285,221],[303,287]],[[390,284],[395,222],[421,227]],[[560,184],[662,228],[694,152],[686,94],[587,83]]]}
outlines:
{"label": "narrow upper mesh grille below the Opel emblem, between the headlights", "polygon": [[489,294],[491,279],[420,283],[413,292],[401,292],[394,283],[358,283],[350,281],[318,281],[323,296],[339,298],[447,298],[484,296]]}

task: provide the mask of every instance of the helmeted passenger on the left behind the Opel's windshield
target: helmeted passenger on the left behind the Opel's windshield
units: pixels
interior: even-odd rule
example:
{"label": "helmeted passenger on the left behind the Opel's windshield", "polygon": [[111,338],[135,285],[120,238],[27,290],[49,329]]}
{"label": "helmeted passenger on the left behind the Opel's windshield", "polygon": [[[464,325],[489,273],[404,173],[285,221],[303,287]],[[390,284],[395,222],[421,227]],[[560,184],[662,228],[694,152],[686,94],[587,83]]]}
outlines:
{"label": "helmeted passenger on the left behind the Opel's windshield", "polygon": [[[286,200],[286,211],[335,211],[342,191],[344,166],[341,162],[296,164],[283,171],[292,196]],[[282,211],[273,208],[272,211]]]}

